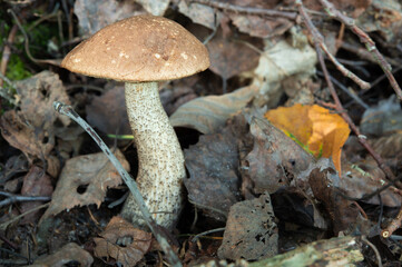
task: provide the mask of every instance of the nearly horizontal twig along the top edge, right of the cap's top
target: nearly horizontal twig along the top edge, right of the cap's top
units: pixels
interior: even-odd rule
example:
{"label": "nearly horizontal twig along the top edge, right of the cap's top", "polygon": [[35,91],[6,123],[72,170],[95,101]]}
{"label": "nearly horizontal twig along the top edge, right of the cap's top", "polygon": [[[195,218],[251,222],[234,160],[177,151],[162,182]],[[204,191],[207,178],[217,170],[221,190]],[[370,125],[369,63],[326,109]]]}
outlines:
{"label": "nearly horizontal twig along the top edge, right of the cap's top", "polygon": [[285,19],[295,20],[297,18],[296,12],[287,12],[287,11],[278,11],[273,9],[262,9],[262,8],[253,8],[253,7],[242,7],[237,4],[231,4],[226,2],[218,2],[215,0],[190,0],[192,2],[202,3],[205,6],[209,6],[216,9],[223,9],[237,13],[247,13],[247,14],[263,14],[268,17],[280,17]]}

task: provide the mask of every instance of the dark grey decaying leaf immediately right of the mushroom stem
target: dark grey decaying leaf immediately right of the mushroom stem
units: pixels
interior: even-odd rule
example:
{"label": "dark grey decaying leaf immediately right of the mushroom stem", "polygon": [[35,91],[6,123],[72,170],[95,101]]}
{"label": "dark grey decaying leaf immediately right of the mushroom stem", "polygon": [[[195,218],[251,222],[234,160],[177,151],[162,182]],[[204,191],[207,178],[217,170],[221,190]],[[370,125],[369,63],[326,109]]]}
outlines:
{"label": "dark grey decaying leaf immediately right of the mushroom stem", "polygon": [[217,220],[225,220],[241,197],[237,137],[243,131],[228,126],[222,132],[202,136],[197,145],[184,151],[189,172],[184,181],[188,198]]}

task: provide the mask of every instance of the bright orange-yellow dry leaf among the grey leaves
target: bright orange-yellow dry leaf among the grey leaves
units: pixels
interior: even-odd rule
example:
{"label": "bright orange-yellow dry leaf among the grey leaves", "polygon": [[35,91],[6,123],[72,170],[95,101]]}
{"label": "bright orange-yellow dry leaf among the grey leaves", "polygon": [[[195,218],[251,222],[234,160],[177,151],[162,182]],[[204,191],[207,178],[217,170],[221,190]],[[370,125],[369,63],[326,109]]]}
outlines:
{"label": "bright orange-yellow dry leaf among the grey leaves", "polygon": [[332,157],[341,174],[341,149],[351,131],[341,116],[316,105],[298,103],[268,110],[265,118],[316,158]]}

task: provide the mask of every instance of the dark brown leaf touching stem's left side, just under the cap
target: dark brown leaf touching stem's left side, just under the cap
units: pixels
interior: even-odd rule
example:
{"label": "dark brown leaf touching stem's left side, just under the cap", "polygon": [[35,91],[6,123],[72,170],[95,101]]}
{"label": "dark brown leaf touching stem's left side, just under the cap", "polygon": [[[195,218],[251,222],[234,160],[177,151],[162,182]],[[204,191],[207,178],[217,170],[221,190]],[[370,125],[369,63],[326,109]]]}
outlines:
{"label": "dark brown leaf touching stem's left side, just under the cap", "polygon": [[131,135],[128,122],[125,88],[114,87],[86,106],[87,120],[105,134]]}

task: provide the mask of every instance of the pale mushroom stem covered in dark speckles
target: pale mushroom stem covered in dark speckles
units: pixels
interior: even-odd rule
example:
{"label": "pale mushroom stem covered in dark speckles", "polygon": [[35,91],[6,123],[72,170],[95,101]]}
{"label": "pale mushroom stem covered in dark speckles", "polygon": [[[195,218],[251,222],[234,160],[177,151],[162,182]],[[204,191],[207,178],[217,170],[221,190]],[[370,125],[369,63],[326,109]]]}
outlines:
{"label": "pale mushroom stem covered in dark speckles", "polygon": [[[176,134],[160,103],[157,82],[125,85],[128,119],[138,152],[137,184],[155,221],[171,228],[183,204],[184,156]],[[145,226],[130,195],[121,216]]]}

